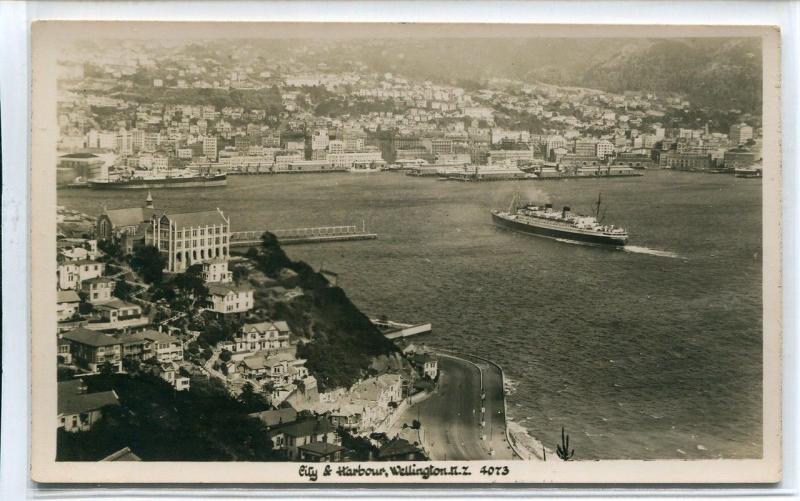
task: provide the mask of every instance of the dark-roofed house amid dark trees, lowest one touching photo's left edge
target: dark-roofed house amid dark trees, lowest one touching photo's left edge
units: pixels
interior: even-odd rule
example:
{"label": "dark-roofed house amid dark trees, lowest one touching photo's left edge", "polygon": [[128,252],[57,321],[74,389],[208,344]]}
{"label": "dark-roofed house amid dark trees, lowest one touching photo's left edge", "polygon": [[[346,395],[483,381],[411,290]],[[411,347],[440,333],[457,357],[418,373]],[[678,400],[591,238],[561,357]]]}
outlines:
{"label": "dark-roofed house amid dark trees, lowest one touching photo's left edge", "polygon": [[58,428],[70,433],[89,431],[103,417],[103,409],[119,405],[113,390],[88,393],[81,379],[59,381]]}

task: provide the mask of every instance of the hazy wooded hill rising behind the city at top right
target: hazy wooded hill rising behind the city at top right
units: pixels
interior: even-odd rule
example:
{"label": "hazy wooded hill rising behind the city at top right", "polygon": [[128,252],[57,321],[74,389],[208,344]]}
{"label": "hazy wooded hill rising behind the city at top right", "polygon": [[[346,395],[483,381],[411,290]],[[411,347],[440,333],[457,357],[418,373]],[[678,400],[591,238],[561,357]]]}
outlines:
{"label": "hazy wooded hill rising behind the city at top right", "polygon": [[373,71],[465,85],[491,78],[686,94],[700,107],[761,110],[761,41],[693,39],[438,39],[348,45]]}

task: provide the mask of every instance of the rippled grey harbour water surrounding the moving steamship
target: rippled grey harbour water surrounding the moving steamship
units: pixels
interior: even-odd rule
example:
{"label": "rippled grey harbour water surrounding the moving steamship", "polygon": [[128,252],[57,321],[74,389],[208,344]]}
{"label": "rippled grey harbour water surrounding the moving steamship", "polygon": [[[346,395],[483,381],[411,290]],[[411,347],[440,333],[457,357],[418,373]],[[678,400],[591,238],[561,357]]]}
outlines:
{"label": "rippled grey harbour water surrounding the moving steamship", "polygon": [[[602,191],[626,251],[495,228],[514,191],[588,212]],[[62,190],[90,214],[141,192]],[[378,240],[287,248],[339,274],[369,316],[431,322],[433,346],[489,357],[514,383],[509,414],[576,458],[761,455],[761,182],[643,177],[445,183],[399,173],[231,176],[153,190],[169,210],[219,207],[232,229],[357,224]]]}

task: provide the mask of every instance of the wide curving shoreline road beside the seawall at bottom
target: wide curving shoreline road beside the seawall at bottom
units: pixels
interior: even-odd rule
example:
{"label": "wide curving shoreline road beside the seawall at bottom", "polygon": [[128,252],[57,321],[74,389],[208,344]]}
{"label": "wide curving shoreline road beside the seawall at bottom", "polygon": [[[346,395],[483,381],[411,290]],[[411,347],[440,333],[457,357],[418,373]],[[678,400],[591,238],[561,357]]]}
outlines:
{"label": "wide curving shoreline road beside the seawall at bottom", "polygon": [[[506,441],[503,399],[502,377],[496,367],[441,355],[437,391],[410,406],[400,421],[419,419],[423,446],[433,460],[514,459]],[[481,426],[482,407],[485,426]]]}

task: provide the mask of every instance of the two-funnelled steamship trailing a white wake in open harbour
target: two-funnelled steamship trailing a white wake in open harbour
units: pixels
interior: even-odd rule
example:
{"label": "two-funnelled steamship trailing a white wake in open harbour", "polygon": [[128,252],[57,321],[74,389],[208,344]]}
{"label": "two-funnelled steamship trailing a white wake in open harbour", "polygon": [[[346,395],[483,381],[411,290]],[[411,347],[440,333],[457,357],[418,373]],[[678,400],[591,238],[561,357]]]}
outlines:
{"label": "two-funnelled steamship trailing a white wake in open harbour", "polygon": [[601,197],[595,204],[595,214],[587,216],[573,213],[569,207],[561,210],[553,204],[519,205],[515,196],[508,210],[493,210],[494,224],[519,233],[547,238],[588,243],[602,246],[624,247],[628,232],[614,225],[602,224],[600,214]]}

